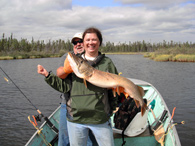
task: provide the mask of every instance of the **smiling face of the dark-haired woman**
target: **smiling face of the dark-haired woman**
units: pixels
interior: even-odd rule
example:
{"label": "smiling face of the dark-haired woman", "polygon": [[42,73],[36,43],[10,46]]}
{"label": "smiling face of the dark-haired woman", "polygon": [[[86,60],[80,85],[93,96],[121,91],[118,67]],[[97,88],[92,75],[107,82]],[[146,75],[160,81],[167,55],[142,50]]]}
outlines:
{"label": "smiling face of the dark-haired woman", "polygon": [[96,33],[86,33],[83,44],[84,44],[85,51],[88,55],[98,54],[100,41]]}

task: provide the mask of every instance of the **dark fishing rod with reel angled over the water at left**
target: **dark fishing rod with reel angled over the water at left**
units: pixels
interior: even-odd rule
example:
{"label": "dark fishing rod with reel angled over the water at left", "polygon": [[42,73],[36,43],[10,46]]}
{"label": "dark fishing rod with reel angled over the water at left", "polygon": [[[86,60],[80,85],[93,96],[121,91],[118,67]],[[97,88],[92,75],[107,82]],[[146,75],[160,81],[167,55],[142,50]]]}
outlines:
{"label": "dark fishing rod with reel angled over the water at left", "polygon": [[[41,118],[44,117],[45,121],[48,123],[48,125],[56,132],[58,133],[58,129],[51,123],[51,121],[45,117],[41,111],[30,101],[30,99],[22,92],[22,90],[14,83],[14,81],[9,77],[9,75],[0,67],[0,69],[3,71],[3,73],[9,78],[9,80],[15,85],[15,87],[22,93],[22,95],[30,102],[30,104],[36,109],[36,111],[41,115]],[[9,80],[4,77],[4,79],[8,82]],[[37,121],[41,121],[39,116],[35,117]]]}

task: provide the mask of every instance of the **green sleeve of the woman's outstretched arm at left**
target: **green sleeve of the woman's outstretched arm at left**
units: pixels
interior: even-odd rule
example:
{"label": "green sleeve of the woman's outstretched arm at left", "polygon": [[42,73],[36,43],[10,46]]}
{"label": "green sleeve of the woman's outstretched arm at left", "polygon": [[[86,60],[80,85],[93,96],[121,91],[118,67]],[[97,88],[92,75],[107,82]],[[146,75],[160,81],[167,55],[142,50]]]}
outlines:
{"label": "green sleeve of the woman's outstretched arm at left", "polygon": [[55,90],[66,93],[70,90],[71,81],[69,78],[61,79],[54,75],[53,73],[50,73],[46,78],[45,81],[47,84],[49,84],[52,88]]}

